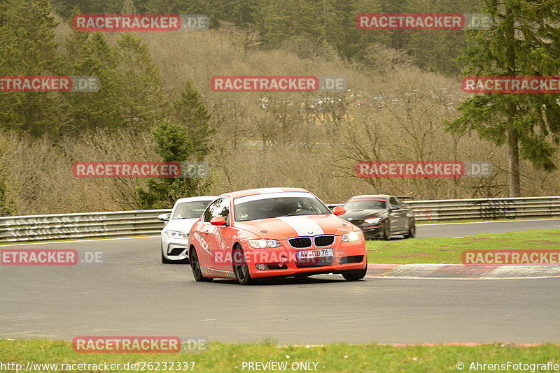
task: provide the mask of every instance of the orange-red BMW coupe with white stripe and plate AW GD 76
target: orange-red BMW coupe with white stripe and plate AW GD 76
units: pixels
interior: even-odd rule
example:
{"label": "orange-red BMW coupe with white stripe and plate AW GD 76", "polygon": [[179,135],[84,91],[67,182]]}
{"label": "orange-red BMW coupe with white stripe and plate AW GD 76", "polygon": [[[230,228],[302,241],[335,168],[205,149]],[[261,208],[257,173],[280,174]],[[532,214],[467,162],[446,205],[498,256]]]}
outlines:
{"label": "orange-red BMW coupe with white stripe and plate AW GD 76", "polygon": [[340,219],[300,188],[262,188],[219,196],[189,233],[196,281],[341,274],[348,281],[367,271],[360,228]]}

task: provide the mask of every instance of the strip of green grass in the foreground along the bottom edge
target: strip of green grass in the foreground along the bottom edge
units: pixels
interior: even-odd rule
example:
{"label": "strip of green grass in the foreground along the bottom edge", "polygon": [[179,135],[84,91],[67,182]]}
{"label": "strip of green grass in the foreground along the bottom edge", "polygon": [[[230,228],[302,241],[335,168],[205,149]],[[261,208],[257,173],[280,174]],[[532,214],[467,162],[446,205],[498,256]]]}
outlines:
{"label": "strip of green grass in the foreground along the bottom edge", "polygon": [[[126,363],[186,361],[195,362],[193,372],[222,373],[244,372],[243,362],[282,362],[288,369],[280,372],[305,372],[293,370],[294,362],[317,363],[316,372],[461,372],[469,371],[472,362],[478,363],[560,363],[560,345],[515,346],[511,344],[483,344],[478,346],[404,346],[379,344],[327,344],[324,346],[276,346],[272,342],[260,344],[211,343],[209,350],[200,353],[76,353],[70,342],[43,339],[0,339],[0,362],[27,365],[29,361],[42,364]],[[295,366],[295,365],[294,365]],[[459,365],[460,367],[461,365]],[[145,372],[178,372],[178,370],[152,370]],[[237,367],[237,368],[236,368]],[[146,368],[147,369],[147,368]],[[496,369],[494,369],[496,370]],[[46,372],[34,370],[33,372]],[[131,370],[111,370],[130,372]],[[141,370],[140,370],[141,371]],[[186,372],[186,370],[181,370]],[[307,370],[309,371],[309,370]],[[486,371],[479,368],[477,371]],[[512,371],[512,370],[510,370]],[[0,372],[8,372],[1,370]],[[14,371],[12,371],[14,372]],[[28,371],[30,372],[30,371]],[[48,372],[61,372],[52,367]],[[109,372],[107,370],[71,370],[71,372]],[[274,370],[260,370],[274,372]]]}

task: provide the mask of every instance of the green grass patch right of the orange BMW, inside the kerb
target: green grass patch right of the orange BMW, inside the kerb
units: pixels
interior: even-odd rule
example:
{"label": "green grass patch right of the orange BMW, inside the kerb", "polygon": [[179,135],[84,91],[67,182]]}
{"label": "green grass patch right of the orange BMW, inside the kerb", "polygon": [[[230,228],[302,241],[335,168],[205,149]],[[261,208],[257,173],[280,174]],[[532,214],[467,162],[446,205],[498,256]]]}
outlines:
{"label": "green grass patch right of the orange BMW, inside the kerb", "polygon": [[560,230],[487,233],[465,237],[414,238],[366,243],[369,263],[460,264],[464,250],[560,249]]}

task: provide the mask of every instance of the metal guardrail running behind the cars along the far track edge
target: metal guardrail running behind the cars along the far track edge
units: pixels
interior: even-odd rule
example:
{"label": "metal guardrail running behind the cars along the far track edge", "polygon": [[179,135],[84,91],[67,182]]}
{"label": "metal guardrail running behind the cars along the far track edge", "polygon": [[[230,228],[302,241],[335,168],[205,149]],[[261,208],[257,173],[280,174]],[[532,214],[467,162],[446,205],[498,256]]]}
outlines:
{"label": "metal guardrail running behind the cars along the far track edge", "polygon": [[[412,207],[419,221],[560,217],[560,196],[412,200],[405,204]],[[341,204],[328,206],[332,208],[338,205]],[[171,210],[0,217],[0,242],[153,235],[160,233],[164,226],[158,220],[158,215],[167,212]]]}

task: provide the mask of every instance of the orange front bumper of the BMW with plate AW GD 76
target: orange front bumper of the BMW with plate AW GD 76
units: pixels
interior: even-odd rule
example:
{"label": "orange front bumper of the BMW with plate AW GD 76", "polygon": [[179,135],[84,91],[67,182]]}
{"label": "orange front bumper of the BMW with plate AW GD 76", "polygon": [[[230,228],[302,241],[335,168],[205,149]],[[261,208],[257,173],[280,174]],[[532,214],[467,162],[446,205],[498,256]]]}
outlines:
{"label": "orange front bumper of the BMW with plate AW GD 76", "polygon": [[[275,249],[254,249],[247,242],[242,243],[249,273],[252,278],[289,277],[299,274],[340,273],[349,270],[363,270],[367,266],[365,240],[342,242],[336,237],[329,247],[309,247],[294,249],[286,242]],[[297,258],[297,251],[332,249],[332,256],[324,258]],[[265,269],[262,268],[265,266]]]}

